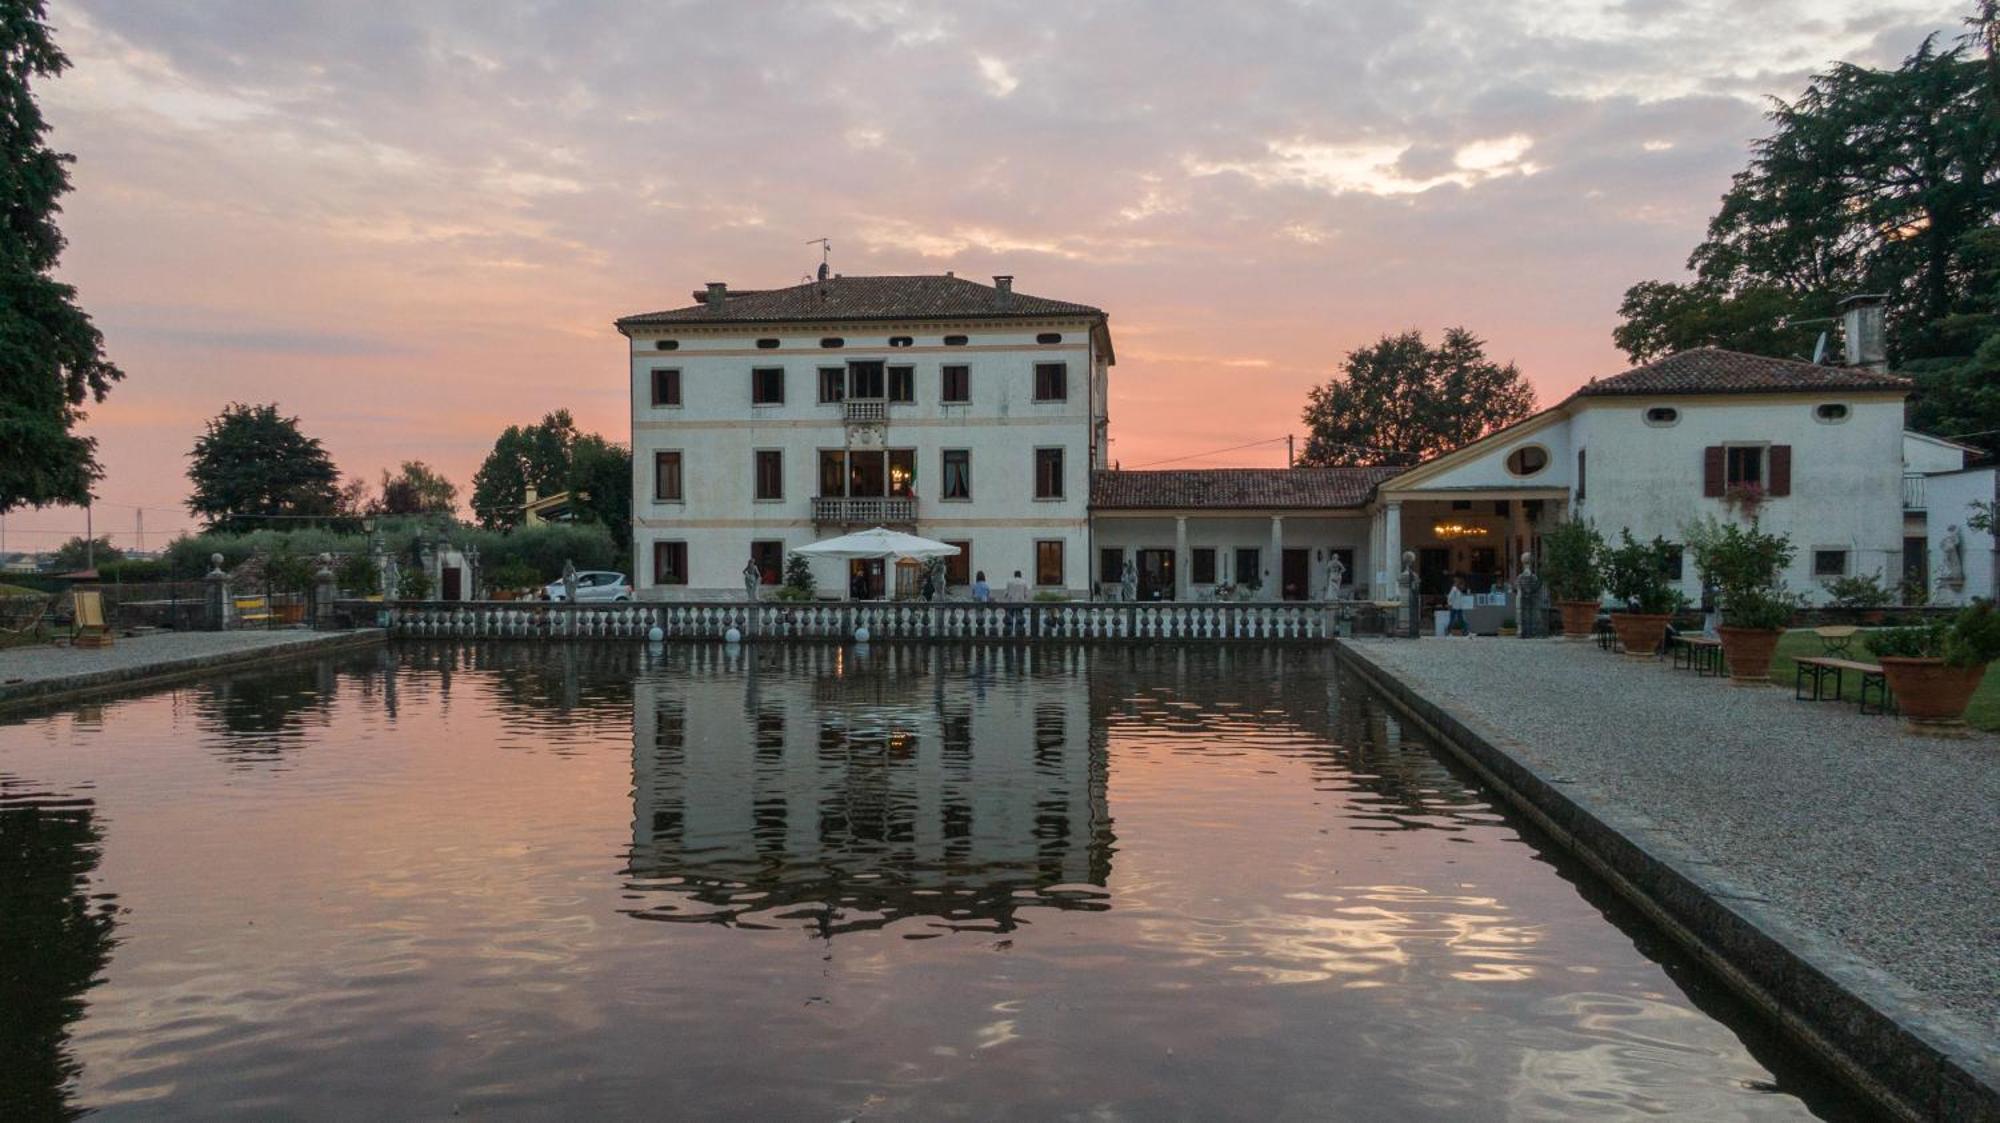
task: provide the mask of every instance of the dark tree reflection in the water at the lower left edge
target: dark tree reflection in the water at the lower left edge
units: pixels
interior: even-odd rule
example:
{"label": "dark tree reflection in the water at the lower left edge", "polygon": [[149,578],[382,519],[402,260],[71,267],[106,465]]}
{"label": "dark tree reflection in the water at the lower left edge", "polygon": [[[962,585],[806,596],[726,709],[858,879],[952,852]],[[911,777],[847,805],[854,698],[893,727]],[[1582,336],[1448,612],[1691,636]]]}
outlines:
{"label": "dark tree reflection in the water at the lower left edge", "polygon": [[0,1119],[64,1119],[82,1069],[70,1027],[112,949],[92,893],[96,803],[0,773]]}

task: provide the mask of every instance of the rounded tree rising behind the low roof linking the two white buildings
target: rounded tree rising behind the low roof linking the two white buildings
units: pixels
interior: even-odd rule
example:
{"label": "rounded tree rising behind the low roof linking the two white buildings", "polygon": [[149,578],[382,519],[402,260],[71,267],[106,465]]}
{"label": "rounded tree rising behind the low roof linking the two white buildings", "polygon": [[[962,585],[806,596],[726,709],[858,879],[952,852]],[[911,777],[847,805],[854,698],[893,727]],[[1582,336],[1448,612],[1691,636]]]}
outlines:
{"label": "rounded tree rising behind the low roof linking the two white buildings", "polygon": [[1422,464],[1528,414],[1534,388],[1472,332],[1452,328],[1436,348],[1414,330],[1382,336],[1306,398],[1300,464]]}

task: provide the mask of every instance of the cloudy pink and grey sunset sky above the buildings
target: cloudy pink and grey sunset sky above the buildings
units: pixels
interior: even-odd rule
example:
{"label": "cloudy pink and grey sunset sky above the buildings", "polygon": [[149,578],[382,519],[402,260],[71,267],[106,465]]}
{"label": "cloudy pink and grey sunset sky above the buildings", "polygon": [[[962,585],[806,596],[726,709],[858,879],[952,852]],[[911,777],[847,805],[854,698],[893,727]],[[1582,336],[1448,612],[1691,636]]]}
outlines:
{"label": "cloudy pink and grey sunset sky above the buildings", "polygon": [[[464,486],[610,322],[708,280],[1014,274],[1106,308],[1112,454],[1282,464],[1306,388],[1464,324],[1544,402],[1622,370],[1770,96],[1892,64],[1928,0],[52,0],[64,276],[128,380],[98,528],[188,526],[186,452],[278,402],[344,472]],[[8,520],[10,548],[80,530]]]}

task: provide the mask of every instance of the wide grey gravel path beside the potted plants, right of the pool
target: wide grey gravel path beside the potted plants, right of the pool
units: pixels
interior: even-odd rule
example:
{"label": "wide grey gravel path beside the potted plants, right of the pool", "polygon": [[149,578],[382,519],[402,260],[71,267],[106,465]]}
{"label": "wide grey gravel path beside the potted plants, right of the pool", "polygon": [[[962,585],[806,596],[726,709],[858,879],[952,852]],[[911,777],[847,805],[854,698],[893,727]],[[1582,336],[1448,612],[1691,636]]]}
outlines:
{"label": "wide grey gravel path beside the potted plants, right of the pool", "polygon": [[1594,643],[1352,647],[2000,1045],[2000,737],[1912,737]]}

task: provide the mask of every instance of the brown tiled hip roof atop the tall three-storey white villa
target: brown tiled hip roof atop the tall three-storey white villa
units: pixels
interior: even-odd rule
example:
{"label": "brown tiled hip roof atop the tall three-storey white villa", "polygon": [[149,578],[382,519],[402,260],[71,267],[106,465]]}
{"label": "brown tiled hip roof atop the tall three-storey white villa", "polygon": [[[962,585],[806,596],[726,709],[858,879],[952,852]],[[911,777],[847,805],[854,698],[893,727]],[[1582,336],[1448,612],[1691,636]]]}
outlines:
{"label": "brown tiled hip roof atop the tall three-storey white villa", "polygon": [[826,320],[992,320],[1020,316],[1104,316],[1068,300],[950,276],[828,278],[792,288],[728,290],[720,306],[700,304],[624,316],[618,328],[648,324],[786,324]]}

